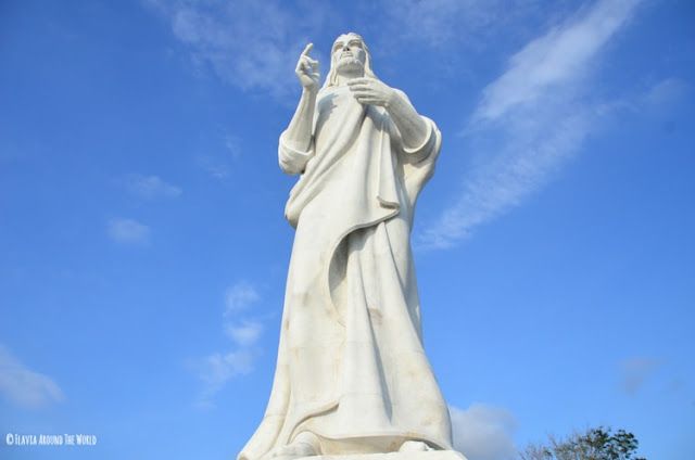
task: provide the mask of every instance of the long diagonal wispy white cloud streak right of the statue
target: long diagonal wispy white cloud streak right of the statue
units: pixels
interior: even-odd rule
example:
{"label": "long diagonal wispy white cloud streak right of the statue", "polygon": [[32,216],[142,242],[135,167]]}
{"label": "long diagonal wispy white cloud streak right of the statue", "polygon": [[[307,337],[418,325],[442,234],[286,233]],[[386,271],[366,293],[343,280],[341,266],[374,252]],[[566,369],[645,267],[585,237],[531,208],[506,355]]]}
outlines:
{"label": "long diagonal wispy white cloud streak right of the statue", "polygon": [[421,246],[451,246],[521,203],[580,150],[605,114],[605,104],[590,93],[590,76],[639,3],[601,0],[511,56],[507,71],[484,88],[465,129],[485,161],[419,235]]}

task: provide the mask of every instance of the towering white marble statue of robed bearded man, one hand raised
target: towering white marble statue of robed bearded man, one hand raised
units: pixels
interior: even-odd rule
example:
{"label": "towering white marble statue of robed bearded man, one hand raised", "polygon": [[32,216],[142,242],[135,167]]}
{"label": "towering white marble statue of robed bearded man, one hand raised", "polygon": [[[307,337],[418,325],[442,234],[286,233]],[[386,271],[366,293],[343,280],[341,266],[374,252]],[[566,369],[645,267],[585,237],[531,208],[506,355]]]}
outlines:
{"label": "towering white marble statue of robed bearded man, one hand raised", "polygon": [[377,78],[361,36],[338,37],[320,89],[311,49],[279,141],[280,167],[299,180],[277,369],[239,460],[451,450],[409,242],[441,135]]}

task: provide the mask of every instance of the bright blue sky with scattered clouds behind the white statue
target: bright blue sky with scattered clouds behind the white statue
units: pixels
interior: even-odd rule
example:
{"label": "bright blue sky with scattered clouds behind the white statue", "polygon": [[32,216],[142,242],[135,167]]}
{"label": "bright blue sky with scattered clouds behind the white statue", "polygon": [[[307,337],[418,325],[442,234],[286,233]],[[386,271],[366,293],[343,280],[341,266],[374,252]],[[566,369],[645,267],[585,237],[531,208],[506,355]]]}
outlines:
{"label": "bright blue sky with scattered clouds behind the white statue", "polygon": [[[610,425],[695,457],[691,1],[5,1],[0,457],[231,459],[273,378],[308,41],[444,138],[413,242],[470,460]],[[7,433],[98,436],[8,447]]]}

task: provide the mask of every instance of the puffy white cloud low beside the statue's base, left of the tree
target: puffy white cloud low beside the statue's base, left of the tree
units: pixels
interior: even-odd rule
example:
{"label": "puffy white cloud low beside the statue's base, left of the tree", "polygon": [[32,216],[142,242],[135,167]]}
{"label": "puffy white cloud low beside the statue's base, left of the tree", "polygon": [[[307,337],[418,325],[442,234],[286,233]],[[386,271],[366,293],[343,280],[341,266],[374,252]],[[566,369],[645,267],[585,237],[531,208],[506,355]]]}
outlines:
{"label": "puffy white cloud low beside the statue's base, left of the tree", "polygon": [[505,409],[473,404],[450,407],[454,448],[470,460],[511,460],[518,457],[513,435],[516,420]]}

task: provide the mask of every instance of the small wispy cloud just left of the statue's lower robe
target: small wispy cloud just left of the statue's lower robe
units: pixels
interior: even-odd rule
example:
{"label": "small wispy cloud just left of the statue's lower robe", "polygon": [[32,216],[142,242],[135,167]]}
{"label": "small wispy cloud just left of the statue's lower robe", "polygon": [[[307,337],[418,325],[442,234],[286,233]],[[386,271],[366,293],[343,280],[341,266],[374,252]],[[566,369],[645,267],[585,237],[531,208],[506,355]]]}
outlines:
{"label": "small wispy cloud just left of the statue's lower robe", "polygon": [[[257,318],[248,317],[245,311],[261,301],[255,285],[238,281],[225,291],[223,330],[232,342],[233,348],[224,353],[213,353],[193,363],[198,376],[203,382],[197,406],[214,408],[215,395],[235,376],[253,371],[261,355],[257,343],[263,335],[263,323]],[[256,316],[257,317],[257,316]]]}

